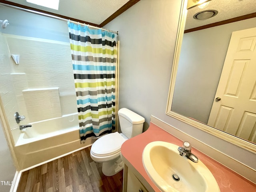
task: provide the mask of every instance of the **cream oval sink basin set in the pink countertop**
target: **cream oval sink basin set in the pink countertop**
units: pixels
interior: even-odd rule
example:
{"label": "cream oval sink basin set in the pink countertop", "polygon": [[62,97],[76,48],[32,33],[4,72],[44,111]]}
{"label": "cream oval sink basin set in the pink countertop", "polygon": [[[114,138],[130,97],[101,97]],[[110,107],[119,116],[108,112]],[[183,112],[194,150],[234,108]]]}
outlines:
{"label": "cream oval sink basin set in the pink countertop", "polygon": [[146,145],[143,166],[154,184],[163,192],[220,192],[210,170],[200,161],[180,156],[178,146],[155,141]]}

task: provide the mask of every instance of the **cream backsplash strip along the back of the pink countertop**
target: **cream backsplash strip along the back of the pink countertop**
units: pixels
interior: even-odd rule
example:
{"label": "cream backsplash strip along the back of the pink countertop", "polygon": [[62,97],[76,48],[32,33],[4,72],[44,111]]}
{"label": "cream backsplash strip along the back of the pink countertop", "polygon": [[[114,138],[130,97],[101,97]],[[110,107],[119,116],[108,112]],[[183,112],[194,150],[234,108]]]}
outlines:
{"label": "cream backsplash strip along the back of the pink countertop", "polygon": [[207,144],[201,142],[200,140],[197,140],[196,138],[193,138],[192,136],[172,127],[171,125],[167,124],[166,122],[163,122],[162,120],[154,116],[151,116],[150,122],[162,128],[166,132],[172,134],[173,136],[179,138],[182,141],[185,141],[185,140],[191,141],[193,143],[193,147],[196,148],[197,150],[201,151],[202,153],[216,160],[220,164],[226,166],[227,168],[233,170],[234,172],[238,173],[239,175],[243,176],[244,178],[256,184],[254,169],[212,148],[211,146],[208,146]]}

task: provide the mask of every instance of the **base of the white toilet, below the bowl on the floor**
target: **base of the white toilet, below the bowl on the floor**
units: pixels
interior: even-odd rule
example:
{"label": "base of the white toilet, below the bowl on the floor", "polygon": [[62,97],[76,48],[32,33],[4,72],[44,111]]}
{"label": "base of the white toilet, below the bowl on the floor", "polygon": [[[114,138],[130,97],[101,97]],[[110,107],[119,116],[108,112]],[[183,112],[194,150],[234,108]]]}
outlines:
{"label": "base of the white toilet, below the bowl on the floor", "polygon": [[124,168],[124,162],[121,158],[102,163],[102,173],[106,176],[113,176]]}

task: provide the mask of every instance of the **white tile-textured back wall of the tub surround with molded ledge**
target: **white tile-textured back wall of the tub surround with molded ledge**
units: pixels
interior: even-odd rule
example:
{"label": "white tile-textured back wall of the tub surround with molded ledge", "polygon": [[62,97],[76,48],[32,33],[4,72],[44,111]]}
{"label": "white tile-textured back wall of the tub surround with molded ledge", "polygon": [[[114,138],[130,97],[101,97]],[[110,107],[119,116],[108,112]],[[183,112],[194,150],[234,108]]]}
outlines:
{"label": "white tile-textured back wall of the tub surround with molded ledge", "polygon": [[[26,116],[20,124],[30,124],[77,112],[70,44],[3,35],[10,53],[20,55],[20,64],[15,64],[10,54],[7,56],[10,63],[8,80],[12,80],[15,93],[12,96],[16,95],[14,99],[18,103],[18,108],[16,107],[12,113],[18,111],[20,115]],[[8,102],[3,100],[3,103]],[[10,107],[6,107],[6,111],[8,108]],[[7,116],[12,117],[9,124],[16,143],[20,130],[13,114]]]}

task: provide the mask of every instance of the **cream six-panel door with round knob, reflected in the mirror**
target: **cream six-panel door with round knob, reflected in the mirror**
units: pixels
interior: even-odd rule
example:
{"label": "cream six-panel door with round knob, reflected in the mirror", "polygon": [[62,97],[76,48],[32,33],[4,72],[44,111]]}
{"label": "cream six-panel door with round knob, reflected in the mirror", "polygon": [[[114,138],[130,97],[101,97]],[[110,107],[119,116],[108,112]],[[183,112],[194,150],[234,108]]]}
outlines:
{"label": "cream six-panel door with round knob, reflected in the mirror", "polygon": [[208,125],[256,142],[256,28],[232,33]]}

